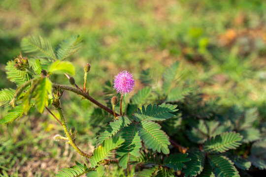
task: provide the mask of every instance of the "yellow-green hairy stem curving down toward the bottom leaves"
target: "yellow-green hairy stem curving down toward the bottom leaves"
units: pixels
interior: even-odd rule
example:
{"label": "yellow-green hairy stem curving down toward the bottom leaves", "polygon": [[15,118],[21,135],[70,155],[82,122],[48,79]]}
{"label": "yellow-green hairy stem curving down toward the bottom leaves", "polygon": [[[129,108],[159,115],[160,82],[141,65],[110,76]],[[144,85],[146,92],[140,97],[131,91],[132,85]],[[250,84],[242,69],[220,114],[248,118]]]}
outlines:
{"label": "yellow-green hairy stem curving down toward the bottom leaves", "polygon": [[62,112],[62,109],[60,107],[57,108],[57,111],[59,112],[59,115],[60,115],[60,118],[61,118],[61,121],[62,121],[62,126],[64,128],[64,131],[66,133],[66,137],[68,138],[68,143],[77,151],[77,153],[79,153],[80,155],[86,157],[86,158],[91,158],[92,155],[89,155],[85,152],[83,152],[82,150],[80,150],[75,141],[73,140],[73,138],[70,136],[70,133],[67,129],[67,126],[66,126],[66,120],[64,118],[64,115],[63,115],[63,112]]}

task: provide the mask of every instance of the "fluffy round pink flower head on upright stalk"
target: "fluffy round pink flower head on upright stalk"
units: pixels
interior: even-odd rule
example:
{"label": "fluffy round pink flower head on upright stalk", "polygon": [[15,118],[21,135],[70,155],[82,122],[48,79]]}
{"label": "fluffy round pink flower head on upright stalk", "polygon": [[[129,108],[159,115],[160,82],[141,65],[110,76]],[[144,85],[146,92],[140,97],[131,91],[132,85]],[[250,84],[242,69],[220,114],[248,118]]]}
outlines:
{"label": "fluffy round pink flower head on upright stalk", "polygon": [[121,94],[127,94],[133,91],[135,80],[128,71],[121,71],[115,76],[114,89]]}

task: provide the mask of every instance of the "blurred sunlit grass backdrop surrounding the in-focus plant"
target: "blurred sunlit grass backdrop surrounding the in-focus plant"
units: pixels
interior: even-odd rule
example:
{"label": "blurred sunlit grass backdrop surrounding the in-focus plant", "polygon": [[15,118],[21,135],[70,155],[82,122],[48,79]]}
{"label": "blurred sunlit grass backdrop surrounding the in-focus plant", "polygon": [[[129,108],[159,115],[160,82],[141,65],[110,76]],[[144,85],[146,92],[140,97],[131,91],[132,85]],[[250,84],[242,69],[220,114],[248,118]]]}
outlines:
{"label": "blurred sunlit grass backdrop surrounding the in-focus plant", "polygon": [[[0,0],[0,89],[15,88],[5,78],[5,64],[20,54],[24,36],[41,35],[56,47],[79,34],[83,47],[68,60],[80,86],[83,67],[91,63],[88,88],[100,101],[104,83],[119,71],[132,72],[138,90],[142,70],[160,74],[179,61],[182,77],[197,85],[205,100],[255,106],[266,116],[265,9],[263,0]],[[68,84],[66,77],[58,81]],[[77,142],[89,152],[100,130],[92,105],[71,93],[64,100]],[[0,118],[6,112],[0,108]],[[47,112],[29,115],[0,126],[0,174],[53,177],[80,160],[64,142],[53,141],[63,131]],[[119,168],[108,173],[124,174]]]}

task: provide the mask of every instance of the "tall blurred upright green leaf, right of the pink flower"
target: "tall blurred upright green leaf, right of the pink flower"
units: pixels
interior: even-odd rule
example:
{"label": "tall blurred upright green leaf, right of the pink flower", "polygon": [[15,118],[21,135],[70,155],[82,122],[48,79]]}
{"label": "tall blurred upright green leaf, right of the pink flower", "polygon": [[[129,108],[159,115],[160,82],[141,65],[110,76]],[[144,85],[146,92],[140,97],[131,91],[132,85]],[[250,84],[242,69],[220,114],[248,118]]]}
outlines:
{"label": "tall blurred upright green leaf, right of the pink flower", "polygon": [[163,90],[166,94],[175,86],[177,79],[180,75],[178,71],[179,62],[172,64],[163,74]]}

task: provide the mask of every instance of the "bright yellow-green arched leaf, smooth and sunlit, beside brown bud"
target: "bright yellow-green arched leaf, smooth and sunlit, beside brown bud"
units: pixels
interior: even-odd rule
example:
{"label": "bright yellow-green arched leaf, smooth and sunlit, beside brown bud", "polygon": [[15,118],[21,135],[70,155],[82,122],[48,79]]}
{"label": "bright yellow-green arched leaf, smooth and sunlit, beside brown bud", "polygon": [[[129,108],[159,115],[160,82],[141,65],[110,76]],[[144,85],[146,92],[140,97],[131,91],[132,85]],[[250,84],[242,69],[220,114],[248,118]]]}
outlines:
{"label": "bright yellow-green arched leaf, smooth and sunlit, beside brown bud", "polygon": [[73,64],[69,61],[56,60],[48,68],[48,73],[51,73],[51,74],[67,73],[67,74],[75,75],[75,68]]}

